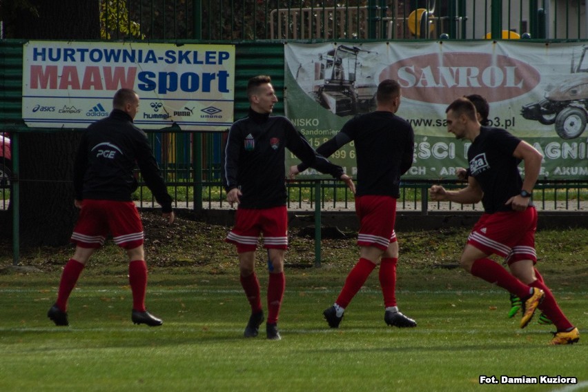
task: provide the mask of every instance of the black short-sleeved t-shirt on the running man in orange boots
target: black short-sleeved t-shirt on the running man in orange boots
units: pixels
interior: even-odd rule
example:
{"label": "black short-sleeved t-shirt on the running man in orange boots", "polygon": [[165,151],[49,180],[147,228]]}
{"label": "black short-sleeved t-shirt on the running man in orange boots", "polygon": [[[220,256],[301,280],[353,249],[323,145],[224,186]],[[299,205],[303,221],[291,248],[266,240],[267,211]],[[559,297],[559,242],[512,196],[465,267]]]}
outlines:
{"label": "black short-sleeved t-shirt on the running man in orange boots", "polygon": [[476,178],[484,191],[482,204],[486,213],[511,211],[505,205],[520,193],[522,179],[518,171],[519,159],[513,157],[520,139],[501,128],[482,126],[467,152],[469,175]]}

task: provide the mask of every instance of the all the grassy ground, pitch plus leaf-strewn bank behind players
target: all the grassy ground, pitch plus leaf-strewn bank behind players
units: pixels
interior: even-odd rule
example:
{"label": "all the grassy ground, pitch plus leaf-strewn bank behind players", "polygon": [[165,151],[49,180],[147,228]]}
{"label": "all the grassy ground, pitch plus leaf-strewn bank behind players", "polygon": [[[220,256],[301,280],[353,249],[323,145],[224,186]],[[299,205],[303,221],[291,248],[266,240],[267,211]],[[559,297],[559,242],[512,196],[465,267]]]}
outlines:
{"label": "all the grassy ground, pitch plus leaf-strewn bank behind players", "polygon": [[[249,311],[234,249],[211,245],[226,228],[205,227],[203,244],[175,228],[163,244],[146,222],[147,304],[164,325],[130,322],[126,262],[112,245],[72,293],[70,326],[53,325],[46,312],[70,248],[25,252],[23,262],[40,272],[0,274],[0,391],[588,391],[585,231],[538,233],[541,271],[580,329],[579,344],[548,346],[552,326],[533,320],[519,329],[518,317],[507,318],[507,293],[451,269],[461,231],[401,235],[398,301],[415,329],[384,324],[377,271],[340,329],[329,329],[322,311],[356,261],[354,240],[325,240],[322,268],[308,268],[302,260],[312,263],[312,241],[293,238],[282,340],[273,342],[264,331],[242,337]],[[0,266],[8,260],[0,257]],[[263,259],[258,267],[265,291]],[[480,385],[480,375],[562,376],[578,384]]]}

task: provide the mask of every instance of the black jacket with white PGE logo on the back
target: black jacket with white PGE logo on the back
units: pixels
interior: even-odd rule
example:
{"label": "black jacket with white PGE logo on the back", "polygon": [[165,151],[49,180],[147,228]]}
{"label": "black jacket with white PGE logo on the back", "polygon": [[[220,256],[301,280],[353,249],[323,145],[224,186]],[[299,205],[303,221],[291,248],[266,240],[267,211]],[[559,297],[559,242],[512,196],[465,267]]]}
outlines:
{"label": "black jacket with white PGE logo on the back", "polygon": [[164,213],[172,208],[172,197],[151,153],[147,135],[133,125],[122,110],[88,126],[82,135],[74,166],[75,197],[82,199],[130,202],[137,189],[133,174],[139,166],[141,175]]}

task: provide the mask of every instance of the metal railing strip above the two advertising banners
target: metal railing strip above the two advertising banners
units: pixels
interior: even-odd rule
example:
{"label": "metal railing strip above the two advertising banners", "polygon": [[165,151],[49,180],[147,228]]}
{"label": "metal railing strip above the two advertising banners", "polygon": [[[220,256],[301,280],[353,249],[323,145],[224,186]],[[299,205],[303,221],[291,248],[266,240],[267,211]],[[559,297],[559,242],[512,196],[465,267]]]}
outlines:
{"label": "metal railing strip above the two advertising banners", "polygon": [[108,39],[588,38],[582,0],[101,0]]}

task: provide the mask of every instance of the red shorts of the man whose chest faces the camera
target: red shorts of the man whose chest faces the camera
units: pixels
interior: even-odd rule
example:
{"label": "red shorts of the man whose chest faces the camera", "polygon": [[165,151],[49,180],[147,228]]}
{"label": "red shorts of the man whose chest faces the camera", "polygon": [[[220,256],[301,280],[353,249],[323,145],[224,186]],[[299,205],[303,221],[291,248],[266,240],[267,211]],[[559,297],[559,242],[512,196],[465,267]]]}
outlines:
{"label": "red shorts of the man whose chest faces the camera", "polygon": [[237,245],[237,253],[253,252],[259,233],[264,235],[264,248],[288,248],[288,213],[286,206],[255,210],[238,208],[235,227],[225,241]]}

